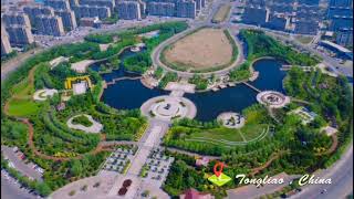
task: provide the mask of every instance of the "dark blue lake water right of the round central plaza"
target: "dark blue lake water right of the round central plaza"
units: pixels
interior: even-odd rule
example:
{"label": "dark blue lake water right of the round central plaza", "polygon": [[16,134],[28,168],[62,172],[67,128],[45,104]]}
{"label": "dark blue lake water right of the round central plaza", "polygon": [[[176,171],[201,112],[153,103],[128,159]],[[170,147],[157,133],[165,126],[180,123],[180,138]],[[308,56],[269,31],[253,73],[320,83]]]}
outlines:
{"label": "dark blue lake water right of the round central plaza", "polygon": [[[285,72],[280,71],[281,63],[275,60],[260,60],[253,65],[259,71],[259,77],[252,82],[257,88],[282,92],[282,80]],[[257,103],[257,93],[243,84],[228,87],[218,92],[186,94],[197,106],[199,121],[210,121],[222,112],[241,112],[243,108]]]}

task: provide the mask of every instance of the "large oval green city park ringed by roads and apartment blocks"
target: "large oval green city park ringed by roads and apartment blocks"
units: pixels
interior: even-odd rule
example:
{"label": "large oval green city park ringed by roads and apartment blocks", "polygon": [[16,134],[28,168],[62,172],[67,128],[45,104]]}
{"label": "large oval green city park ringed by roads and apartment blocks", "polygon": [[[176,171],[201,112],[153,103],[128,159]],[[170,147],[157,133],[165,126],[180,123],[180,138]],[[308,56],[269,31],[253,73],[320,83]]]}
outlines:
{"label": "large oval green city park ringed by roads and apartment blocks", "polygon": [[[121,54],[127,55],[121,59]],[[261,91],[256,85],[262,74],[253,65],[270,57],[292,65],[280,83],[281,91]],[[216,187],[207,180],[216,160],[228,166],[228,176],[312,172],[339,159],[353,130],[347,81],[322,73],[316,69],[320,62],[258,30],[240,30],[235,35],[228,29],[188,29],[186,22],[167,22],[88,35],[82,43],[34,55],[2,83],[1,144],[19,147],[30,161],[43,168],[43,181],[23,177],[9,168],[3,157],[1,166],[42,196],[54,191],[53,198],[84,198],[93,192],[134,196],[132,190],[137,191],[149,174],[147,164],[136,159],[147,161],[155,157],[148,154],[156,153],[159,144],[163,150],[158,151],[163,154],[158,158],[171,157],[174,161],[164,165],[168,171],[158,190],[153,186],[152,197],[158,191],[178,196],[189,188],[225,197],[228,189],[239,185],[232,179]],[[117,71],[124,71],[124,75],[116,75]],[[115,108],[103,98],[110,86],[124,81],[139,81],[152,91],[170,93],[149,98],[140,107]],[[248,87],[254,103],[238,112],[230,107],[217,113],[218,117],[198,121],[201,109],[218,105],[200,108],[189,95],[212,95],[240,86]],[[134,93],[134,87],[129,90]],[[129,94],[117,91],[114,95]],[[218,104],[222,103],[220,98]],[[294,112],[299,108],[315,114]],[[160,125],[155,128],[156,122]],[[326,134],[326,127],[336,133]],[[119,172],[110,177],[106,175],[111,172],[103,174],[112,153],[121,157],[121,151],[135,147],[139,149],[127,156],[129,160],[124,160]],[[214,158],[196,166],[196,159],[206,156]],[[101,181],[93,184],[91,179],[100,175]],[[103,179],[115,182],[108,185]],[[87,188],[91,184],[92,188]],[[108,191],[98,191],[100,184]],[[293,188],[285,187],[278,195]]]}

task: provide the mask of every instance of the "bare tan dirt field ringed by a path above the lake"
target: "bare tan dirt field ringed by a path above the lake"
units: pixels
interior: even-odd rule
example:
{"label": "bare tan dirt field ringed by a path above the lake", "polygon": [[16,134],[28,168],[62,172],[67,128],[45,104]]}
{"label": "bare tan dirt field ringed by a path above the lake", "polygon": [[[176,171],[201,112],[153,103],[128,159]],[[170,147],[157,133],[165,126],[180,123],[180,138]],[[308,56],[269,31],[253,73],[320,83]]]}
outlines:
{"label": "bare tan dirt field ringed by a path above the lake", "polygon": [[227,65],[232,59],[232,45],[221,29],[201,29],[166,49],[165,63],[185,70],[208,70]]}

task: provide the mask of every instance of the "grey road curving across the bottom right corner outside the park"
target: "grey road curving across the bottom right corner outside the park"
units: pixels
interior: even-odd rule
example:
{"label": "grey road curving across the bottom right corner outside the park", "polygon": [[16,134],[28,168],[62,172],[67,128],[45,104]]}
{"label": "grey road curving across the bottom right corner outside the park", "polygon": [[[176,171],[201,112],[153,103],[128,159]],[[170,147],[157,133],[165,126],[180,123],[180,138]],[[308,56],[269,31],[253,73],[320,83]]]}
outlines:
{"label": "grey road curving across the bottom right corner outside the park", "polygon": [[[329,169],[321,170],[315,175],[321,178],[331,178],[331,185],[311,185],[303,188],[301,192],[294,195],[293,199],[311,198],[311,199],[343,199],[347,195],[353,193],[353,145]],[[323,189],[326,192],[321,193]]]}

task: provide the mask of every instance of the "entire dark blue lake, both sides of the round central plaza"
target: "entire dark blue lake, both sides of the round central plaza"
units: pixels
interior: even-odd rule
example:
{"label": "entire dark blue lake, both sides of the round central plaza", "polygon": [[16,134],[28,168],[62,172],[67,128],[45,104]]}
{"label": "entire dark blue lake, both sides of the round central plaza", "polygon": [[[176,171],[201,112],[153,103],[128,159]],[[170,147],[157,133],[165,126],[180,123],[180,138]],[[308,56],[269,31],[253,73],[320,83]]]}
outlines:
{"label": "entire dark blue lake, both sides of the round central plaza", "polygon": [[[121,57],[124,60],[124,56]],[[251,84],[260,90],[274,90],[282,92],[282,80],[285,72],[280,71],[281,63],[277,60],[260,60],[253,65],[260,72],[259,77]],[[126,72],[121,67],[112,74],[105,74],[106,81],[113,77],[124,76]],[[108,86],[102,96],[102,101],[117,109],[139,108],[148,98],[168,95],[169,92],[162,90],[149,90],[139,81],[119,81]],[[243,84],[228,87],[218,92],[204,92],[185,94],[197,106],[199,121],[215,119],[222,112],[241,112],[243,108],[257,103],[257,93]]]}

